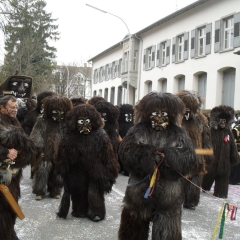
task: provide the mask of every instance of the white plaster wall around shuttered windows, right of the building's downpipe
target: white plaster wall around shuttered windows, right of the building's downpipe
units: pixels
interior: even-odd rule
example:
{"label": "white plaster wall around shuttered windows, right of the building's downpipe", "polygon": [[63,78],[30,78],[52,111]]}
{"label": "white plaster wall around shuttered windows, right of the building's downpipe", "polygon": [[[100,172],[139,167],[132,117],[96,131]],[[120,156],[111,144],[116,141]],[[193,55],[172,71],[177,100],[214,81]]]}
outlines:
{"label": "white plaster wall around shuttered windows, right of the building's downpipe", "polygon": [[[239,11],[239,0],[212,0],[202,4],[195,10],[187,11],[179,17],[175,17],[167,23],[146,32],[144,36],[142,36],[143,49],[146,49],[151,45],[157,45],[166,39],[171,39],[170,64],[162,68],[155,67],[147,71],[143,71],[142,69],[140,98],[145,95],[144,83],[147,80],[151,80],[153,82],[153,90],[157,90],[157,84],[160,78],[167,78],[167,91],[175,93],[176,87],[174,87],[174,77],[179,74],[185,75],[185,89],[197,91],[196,76],[194,76],[194,74],[198,72],[206,72],[206,109],[211,109],[214,106],[221,104],[221,76],[219,76],[218,70],[226,67],[233,67],[236,68],[234,107],[235,109],[240,109],[240,101],[238,100],[239,91],[237,90],[240,87],[240,56],[233,54],[233,52],[239,50],[239,48],[224,53],[214,53],[215,21]],[[211,54],[199,59],[191,59],[191,30],[208,23],[212,23]],[[185,60],[182,63],[172,63],[172,38],[183,32],[189,32],[188,60]]]}

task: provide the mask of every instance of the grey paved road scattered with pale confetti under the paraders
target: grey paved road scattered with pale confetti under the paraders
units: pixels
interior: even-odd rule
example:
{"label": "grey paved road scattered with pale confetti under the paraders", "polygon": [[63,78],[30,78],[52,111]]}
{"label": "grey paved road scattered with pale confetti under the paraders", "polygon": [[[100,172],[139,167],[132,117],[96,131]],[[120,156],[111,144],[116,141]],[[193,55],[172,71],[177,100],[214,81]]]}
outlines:
{"label": "grey paved road scattered with pale confetti under the paraders", "polygon": [[[36,201],[32,194],[30,168],[24,169],[21,183],[22,198],[19,201],[25,219],[17,219],[15,229],[21,240],[117,240],[122,198],[128,178],[119,175],[113,191],[106,195],[106,219],[92,222],[89,219],[78,219],[71,216],[70,211],[66,220],[56,217],[60,199],[44,198]],[[199,206],[195,211],[183,209],[182,232],[183,240],[209,240],[216,224],[223,199],[216,199],[209,194],[201,193]],[[240,185],[229,186],[228,203],[240,205]],[[70,208],[71,209],[71,208]],[[219,231],[218,231],[219,232]],[[149,234],[151,239],[151,233]],[[218,239],[216,236],[215,239]],[[236,221],[226,220],[224,238],[240,239],[240,216]]]}

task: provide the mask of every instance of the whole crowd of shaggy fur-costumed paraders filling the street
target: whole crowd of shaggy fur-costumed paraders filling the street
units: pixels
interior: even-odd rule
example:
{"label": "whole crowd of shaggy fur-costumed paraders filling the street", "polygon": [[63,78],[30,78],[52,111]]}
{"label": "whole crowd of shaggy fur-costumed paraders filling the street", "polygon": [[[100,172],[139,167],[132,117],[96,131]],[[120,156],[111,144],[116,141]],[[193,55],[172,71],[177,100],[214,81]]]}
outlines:
{"label": "whole crowd of shaggy fur-costumed paraders filling the street", "polygon": [[[20,181],[31,166],[32,193],[61,199],[57,217],[98,222],[118,174],[129,177],[119,240],[181,240],[182,208],[201,189],[227,198],[240,184],[240,120],[231,106],[203,113],[195,91],[150,92],[135,106],[100,96],[36,97],[29,79],[10,77],[0,98],[0,240],[18,239]],[[28,81],[27,81],[28,80]],[[1,90],[1,89],[0,89]],[[9,91],[10,90],[10,91]]]}

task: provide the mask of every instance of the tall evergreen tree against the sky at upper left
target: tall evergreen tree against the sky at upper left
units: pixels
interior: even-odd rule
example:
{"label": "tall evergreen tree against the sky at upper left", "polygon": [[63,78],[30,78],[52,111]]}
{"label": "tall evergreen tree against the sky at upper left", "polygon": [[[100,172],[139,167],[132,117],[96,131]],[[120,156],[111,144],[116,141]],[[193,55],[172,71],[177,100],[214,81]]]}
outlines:
{"label": "tall evergreen tree against the sky at upper left", "polygon": [[[35,92],[49,88],[53,66],[48,58],[54,58],[57,49],[49,45],[59,39],[58,25],[51,13],[45,10],[44,0],[11,0],[12,12],[5,26],[4,74],[31,76]],[[45,87],[44,87],[45,86]]]}

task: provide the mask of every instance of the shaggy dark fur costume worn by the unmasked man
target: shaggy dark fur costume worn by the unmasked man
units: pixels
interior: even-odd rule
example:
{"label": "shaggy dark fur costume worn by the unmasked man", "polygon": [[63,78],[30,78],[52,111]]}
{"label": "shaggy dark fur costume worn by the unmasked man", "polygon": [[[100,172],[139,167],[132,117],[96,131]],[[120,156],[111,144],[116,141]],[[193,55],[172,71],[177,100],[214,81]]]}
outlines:
{"label": "shaggy dark fur costume worn by the unmasked man", "polygon": [[[20,198],[20,179],[22,177],[22,168],[35,158],[35,146],[22,128],[14,126],[0,126],[0,180],[5,184],[16,202]],[[4,170],[6,153],[8,149],[14,148],[18,151],[18,156],[14,160],[9,170],[18,169],[15,174],[9,170]],[[5,171],[5,173],[4,173]],[[16,214],[0,193],[0,239],[18,239],[14,231]]]}

